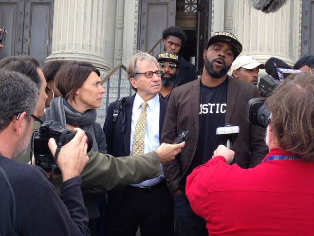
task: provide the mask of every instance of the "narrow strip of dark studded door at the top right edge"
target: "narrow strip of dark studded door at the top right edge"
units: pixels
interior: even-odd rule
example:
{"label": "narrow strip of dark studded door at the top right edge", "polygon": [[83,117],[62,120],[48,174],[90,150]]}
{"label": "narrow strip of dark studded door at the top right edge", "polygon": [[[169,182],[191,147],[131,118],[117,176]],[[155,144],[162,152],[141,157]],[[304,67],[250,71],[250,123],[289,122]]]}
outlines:
{"label": "narrow strip of dark studded door at the top right edge", "polygon": [[301,57],[314,55],[314,0],[302,1]]}

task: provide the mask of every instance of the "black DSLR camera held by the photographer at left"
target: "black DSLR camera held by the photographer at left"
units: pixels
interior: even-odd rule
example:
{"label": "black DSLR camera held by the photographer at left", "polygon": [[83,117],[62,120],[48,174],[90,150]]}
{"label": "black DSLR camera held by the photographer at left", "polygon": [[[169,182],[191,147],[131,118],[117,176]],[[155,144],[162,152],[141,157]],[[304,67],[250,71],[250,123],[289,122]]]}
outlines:
{"label": "black DSLR camera held by the photographer at left", "polygon": [[[75,132],[63,128],[58,122],[52,120],[46,121],[34,134],[33,145],[35,164],[45,171],[51,171],[54,164],[54,157],[52,156],[48,147],[48,140],[49,138],[55,138],[55,142],[58,143],[63,132],[65,132],[65,136],[62,142],[63,146],[70,142],[72,138],[74,138]],[[89,152],[92,149],[92,138],[86,131],[85,134],[87,136],[88,144],[87,152]],[[55,170],[60,172],[59,168],[56,168]]]}

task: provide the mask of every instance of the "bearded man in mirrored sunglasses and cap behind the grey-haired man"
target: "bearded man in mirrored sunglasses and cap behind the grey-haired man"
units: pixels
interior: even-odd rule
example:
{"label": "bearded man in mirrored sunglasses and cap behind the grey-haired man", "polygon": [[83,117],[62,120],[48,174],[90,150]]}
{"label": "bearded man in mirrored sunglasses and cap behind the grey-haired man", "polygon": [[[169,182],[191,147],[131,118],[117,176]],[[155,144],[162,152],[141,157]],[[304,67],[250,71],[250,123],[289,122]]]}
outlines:
{"label": "bearded man in mirrored sunglasses and cap behind the grey-haired man", "polygon": [[170,51],[162,52],[157,55],[157,61],[163,74],[161,76],[162,86],[159,96],[169,101],[171,91],[174,87],[175,79],[178,75],[179,60],[178,56]]}

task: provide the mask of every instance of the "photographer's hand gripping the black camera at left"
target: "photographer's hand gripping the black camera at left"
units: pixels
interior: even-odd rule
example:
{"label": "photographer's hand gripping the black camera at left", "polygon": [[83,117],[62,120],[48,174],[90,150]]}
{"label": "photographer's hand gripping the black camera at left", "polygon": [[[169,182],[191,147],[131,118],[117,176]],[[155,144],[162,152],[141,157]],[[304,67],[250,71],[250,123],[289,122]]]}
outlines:
{"label": "photographer's hand gripping the black camera at left", "polygon": [[[56,160],[62,172],[63,181],[79,176],[89,160],[85,132],[79,128],[75,128],[74,131],[76,135],[70,142],[62,146]],[[55,156],[57,145],[54,138],[49,139],[48,146],[52,155]]]}

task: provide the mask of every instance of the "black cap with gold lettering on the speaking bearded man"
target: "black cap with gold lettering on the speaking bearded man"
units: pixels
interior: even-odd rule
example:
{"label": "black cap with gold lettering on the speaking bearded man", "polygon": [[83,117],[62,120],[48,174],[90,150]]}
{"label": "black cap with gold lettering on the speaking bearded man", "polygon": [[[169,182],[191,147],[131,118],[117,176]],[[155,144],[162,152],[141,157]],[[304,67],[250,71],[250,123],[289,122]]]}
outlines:
{"label": "black cap with gold lettering on the speaking bearded man", "polygon": [[233,47],[233,52],[235,54],[235,58],[239,56],[242,51],[242,44],[238,41],[237,37],[230,32],[216,32],[213,36],[208,40],[206,50],[208,47],[215,42],[226,42]]}

